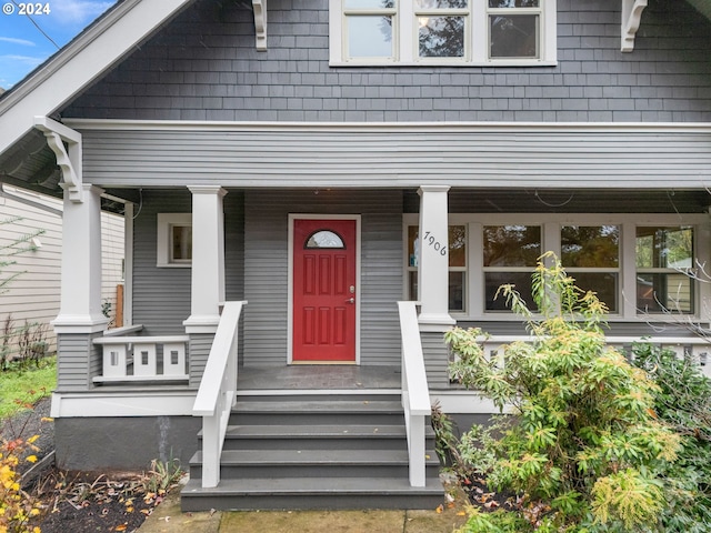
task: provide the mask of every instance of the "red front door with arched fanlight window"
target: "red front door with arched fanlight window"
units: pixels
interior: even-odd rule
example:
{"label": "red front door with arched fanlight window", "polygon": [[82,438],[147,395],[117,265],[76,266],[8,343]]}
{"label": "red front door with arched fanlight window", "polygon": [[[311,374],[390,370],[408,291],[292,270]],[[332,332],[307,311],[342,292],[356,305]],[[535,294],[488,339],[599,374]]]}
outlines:
{"label": "red front door with arched fanlight window", "polygon": [[356,362],[356,221],[294,220],[294,362]]}

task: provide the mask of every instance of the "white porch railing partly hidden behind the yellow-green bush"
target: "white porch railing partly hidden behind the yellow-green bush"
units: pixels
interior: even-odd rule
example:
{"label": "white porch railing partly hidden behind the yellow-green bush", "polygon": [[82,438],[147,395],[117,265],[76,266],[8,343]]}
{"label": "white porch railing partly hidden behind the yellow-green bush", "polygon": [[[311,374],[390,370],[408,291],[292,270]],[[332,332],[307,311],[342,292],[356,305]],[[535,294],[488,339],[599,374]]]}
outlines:
{"label": "white porch railing partly hidden behind the yellow-green bush", "polygon": [[[701,372],[711,378],[711,344],[708,340],[699,336],[622,336],[605,335],[609,345],[618,349],[621,353],[631,356],[630,349],[632,344],[639,342],[649,342],[659,348],[672,350],[678,358],[688,359],[699,365]],[[484,354],[489,358],[495,358],[503,353],[502,348],[515,341],[531,341],[529,335],[491,335],[480,336],[478,339],[482,343]]]}

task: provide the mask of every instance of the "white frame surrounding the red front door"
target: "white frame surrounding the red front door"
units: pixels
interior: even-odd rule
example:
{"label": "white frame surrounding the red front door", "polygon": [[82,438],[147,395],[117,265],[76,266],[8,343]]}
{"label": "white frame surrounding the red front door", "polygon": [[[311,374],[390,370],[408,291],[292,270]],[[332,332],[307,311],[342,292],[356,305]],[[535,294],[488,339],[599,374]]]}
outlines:
{"label": "white frame surrounding the red front door", "polygon": [[[360,214],[289,213],[289,249],[287,282],[287,364],[293,363],[293,227],[294,220],[354,220],[356,221],[356,364],[360,364]],[[314,363],[318,364],[318,363]],[[338,364],[338,363],[336,363]]]}

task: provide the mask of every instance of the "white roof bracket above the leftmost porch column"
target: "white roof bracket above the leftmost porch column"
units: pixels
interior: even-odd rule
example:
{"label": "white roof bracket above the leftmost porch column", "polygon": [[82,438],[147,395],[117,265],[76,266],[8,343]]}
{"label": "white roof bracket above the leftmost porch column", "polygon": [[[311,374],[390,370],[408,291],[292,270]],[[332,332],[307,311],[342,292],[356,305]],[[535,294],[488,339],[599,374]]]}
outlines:
{"label": "white roof bracket above the leftmost porch column", "polygon": [[82,203],[81,133],[47,117],[34,117],[34,128],[44,133],[47,144],[57,157],[62,171],[60,187],[69,192],[72,202]]}

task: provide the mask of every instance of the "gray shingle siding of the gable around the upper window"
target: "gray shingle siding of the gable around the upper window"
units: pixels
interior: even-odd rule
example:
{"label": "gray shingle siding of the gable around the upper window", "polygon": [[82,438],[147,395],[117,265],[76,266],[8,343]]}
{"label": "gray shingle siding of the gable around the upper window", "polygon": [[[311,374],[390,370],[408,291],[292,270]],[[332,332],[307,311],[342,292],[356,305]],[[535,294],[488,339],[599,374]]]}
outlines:
{"label": "gray shingle siding of the gable around the upper window", "polygon": [[228,121],[711,121],[711,22],[650,0],[632,53],[620,1],[558,0],[557,67],[329,66],[328,0],[198,1],[63,117]]}

